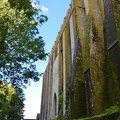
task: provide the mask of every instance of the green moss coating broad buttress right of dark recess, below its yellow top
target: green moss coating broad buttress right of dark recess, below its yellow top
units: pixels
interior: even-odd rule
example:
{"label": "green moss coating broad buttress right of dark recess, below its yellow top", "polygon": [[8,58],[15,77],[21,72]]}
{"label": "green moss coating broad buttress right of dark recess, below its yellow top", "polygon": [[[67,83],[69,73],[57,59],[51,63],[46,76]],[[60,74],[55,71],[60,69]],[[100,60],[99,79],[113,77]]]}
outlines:
{"label": "green moss coating broad buttress right of dark recess, below its yellow top", "polygon": [[[95,114],[101,113],[104,107],[104,59],[105,59],[105,49],[104,49],[104,39],[101,39],[98,32],[101,28],[96,26],[94,22],[95,18],[92,19],[92,34],[91,36],[91,80],[92,80],[92,91],[93,91],[93,101],[94,101],[94,111]],[[102,26],[99,26],[102,27]],[[102,35],[103,33],[101,33]]]}

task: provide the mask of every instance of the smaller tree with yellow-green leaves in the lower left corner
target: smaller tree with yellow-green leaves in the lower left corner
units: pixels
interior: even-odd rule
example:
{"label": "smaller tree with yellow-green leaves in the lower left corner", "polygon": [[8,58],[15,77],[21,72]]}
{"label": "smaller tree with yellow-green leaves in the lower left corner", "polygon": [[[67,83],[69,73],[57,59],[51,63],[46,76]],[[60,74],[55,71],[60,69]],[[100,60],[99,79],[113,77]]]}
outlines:
{"label": "smaller tree with yellow-green leaves in the lower left corner", "polygon": [[0,84],[0,120],[21,120],[24,112],[24,93],[21,88]]}

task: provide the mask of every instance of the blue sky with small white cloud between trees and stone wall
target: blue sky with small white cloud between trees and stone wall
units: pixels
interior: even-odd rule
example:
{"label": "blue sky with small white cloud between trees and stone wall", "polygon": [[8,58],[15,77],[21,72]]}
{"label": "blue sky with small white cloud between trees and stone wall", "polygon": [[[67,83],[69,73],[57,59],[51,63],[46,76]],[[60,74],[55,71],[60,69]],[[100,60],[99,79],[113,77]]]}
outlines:
{"label": "blue sky with small white cloud between trees and stone wall", "polygon": [[[40,29],[40,35],[43,37],[46,45],[45,51],[50,52],[57,34],[66,16],[71,0],[40,0],[40,9],[48,17],[48,22],[44,23]],[[45,71],[48,60],[36,62],[37,70],[40,73]],[[31,82],[25,91],[25,118],[35,119],[40,112],[42,78],[39,82]]]}

